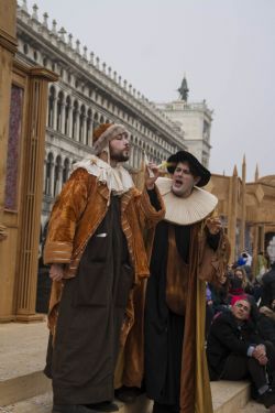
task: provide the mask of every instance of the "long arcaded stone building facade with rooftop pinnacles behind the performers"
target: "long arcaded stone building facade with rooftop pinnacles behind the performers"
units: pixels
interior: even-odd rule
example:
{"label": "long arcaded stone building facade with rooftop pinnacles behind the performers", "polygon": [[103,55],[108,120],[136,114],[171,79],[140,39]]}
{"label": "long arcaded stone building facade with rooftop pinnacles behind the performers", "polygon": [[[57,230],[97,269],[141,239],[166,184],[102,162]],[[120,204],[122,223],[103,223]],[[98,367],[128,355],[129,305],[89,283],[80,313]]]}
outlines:
{"label": "long arcaded stone building facade with rooftop pinnacles behind the performers", "polygon": [[38,19],[26,0],[18,8],[18,58],[58,74],[48,88],[46,152],[44,161],[44,226],[53,200],[67,180],[72,165],[91,153],[92,130],[102,122],[123,123],[130,131],[129,169],[138,171],[146,153],[156,163],[186,149],[184,130],[141,95],[131,84],[100,63],[99,57],[73,42],[48,15]]}

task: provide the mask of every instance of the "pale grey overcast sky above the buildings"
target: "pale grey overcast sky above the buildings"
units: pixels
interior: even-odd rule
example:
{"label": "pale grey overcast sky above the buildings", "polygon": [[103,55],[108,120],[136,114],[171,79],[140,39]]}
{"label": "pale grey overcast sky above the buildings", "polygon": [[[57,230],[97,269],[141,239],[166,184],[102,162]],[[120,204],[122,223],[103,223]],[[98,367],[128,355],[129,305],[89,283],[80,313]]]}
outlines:
{"label": "pale grey overcast sky above the buildings", "polygon": [[[20,3],[22,0],[20,0]],[[34,1],[28,0],[29,11]],[[213,109],[210,169],[275,174],[275,0],[36,0],[38,15],[87,45],[152,101]]]}

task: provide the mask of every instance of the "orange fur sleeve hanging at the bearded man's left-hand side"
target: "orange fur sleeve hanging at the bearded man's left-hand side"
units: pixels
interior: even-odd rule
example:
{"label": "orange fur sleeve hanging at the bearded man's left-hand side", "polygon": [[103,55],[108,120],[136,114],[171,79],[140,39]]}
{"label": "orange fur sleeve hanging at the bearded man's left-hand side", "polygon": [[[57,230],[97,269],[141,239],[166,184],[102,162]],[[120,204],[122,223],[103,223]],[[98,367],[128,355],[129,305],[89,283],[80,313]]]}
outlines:
{"label": "orange fur sleeve hanging at the bearded man's left-hand side", "polygon": [[90,175],[76,170],[64,185],[54,204],[46,243],[44,263],[69,263],[77,222],[84,213],[91,191]]}

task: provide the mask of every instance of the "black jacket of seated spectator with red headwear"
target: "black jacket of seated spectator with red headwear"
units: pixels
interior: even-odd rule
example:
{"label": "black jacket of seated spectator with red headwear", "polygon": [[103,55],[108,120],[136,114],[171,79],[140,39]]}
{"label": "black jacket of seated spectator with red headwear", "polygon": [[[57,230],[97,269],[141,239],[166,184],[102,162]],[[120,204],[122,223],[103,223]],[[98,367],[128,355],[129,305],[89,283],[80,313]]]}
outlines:
{"label": "black jacket of seated spectator with red headwear", "polygon": [[213,320],[207,343],[207,360],[210,380],[219,380],[230,355],[246,356],[252,344],[263,343],[255,325],[248,320],[237,324],[231,311]]}

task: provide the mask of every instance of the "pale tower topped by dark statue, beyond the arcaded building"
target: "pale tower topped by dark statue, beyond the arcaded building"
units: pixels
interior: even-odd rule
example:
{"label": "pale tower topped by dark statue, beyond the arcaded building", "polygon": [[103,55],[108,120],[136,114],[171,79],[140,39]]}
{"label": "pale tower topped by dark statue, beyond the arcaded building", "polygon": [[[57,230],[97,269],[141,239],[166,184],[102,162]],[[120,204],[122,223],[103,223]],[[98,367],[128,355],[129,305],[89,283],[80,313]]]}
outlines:
{"label": "pale tower topped by dark statue, beyond the arcaded building", "polygon": [[178,88],[179,99],[167,104],[157,104],[166,116],[185,133],[185,144],[198,160],[208,167],[210,159],[210,132],[212,110],[205,100],[201,102],[188,101],[188,86],[184,77]]}

